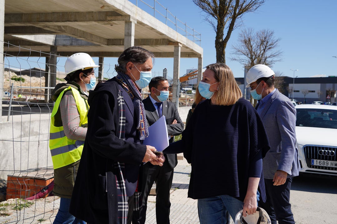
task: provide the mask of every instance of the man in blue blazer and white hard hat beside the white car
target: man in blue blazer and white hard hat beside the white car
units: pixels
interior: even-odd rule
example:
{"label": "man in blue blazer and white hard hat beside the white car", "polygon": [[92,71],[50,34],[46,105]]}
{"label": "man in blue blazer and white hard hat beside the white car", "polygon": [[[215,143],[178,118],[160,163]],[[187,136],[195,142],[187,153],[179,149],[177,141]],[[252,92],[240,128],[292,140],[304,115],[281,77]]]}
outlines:
{"label": "man in blue blazer and white hard hat beside the white car", "polygon": [[296,143],[296,109],[288,97],[274,87],[275,73],[268,66],[257,64],[247,73],[251,96],[258,100],[257,113],[265,126],[270,150],[263,160],[267,201],[259,207],[269,214],[272,224],[295,224],[290,198],[293,177],[299,175]]}

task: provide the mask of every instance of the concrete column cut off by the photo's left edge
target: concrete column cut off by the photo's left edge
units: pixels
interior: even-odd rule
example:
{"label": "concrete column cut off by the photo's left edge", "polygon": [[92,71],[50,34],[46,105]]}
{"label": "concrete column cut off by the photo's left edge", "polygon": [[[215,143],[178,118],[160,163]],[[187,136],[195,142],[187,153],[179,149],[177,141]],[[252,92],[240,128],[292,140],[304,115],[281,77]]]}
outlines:
{"label": "concrete column cut off by the photo's left edge", "polygon": [[2,97],[3,97],[3,78],[4,78],[4,66],[3,66],[3,35],[4,35],[4,23],[5,23],[5,0],[0,0],[0,122],[2,116]]}

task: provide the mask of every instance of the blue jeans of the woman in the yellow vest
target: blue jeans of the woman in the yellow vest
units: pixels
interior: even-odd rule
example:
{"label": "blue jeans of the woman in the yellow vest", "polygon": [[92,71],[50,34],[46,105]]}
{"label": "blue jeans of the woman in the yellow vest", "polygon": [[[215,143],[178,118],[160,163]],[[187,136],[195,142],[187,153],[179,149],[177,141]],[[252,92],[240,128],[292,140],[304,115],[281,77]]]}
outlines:
{"label": "blue jeans of the woman in the yellow vest", "polygon": [[53,224],[85,224],[86,222],[75,218],[69,213],[70,198],[61,197],[60,208]]}

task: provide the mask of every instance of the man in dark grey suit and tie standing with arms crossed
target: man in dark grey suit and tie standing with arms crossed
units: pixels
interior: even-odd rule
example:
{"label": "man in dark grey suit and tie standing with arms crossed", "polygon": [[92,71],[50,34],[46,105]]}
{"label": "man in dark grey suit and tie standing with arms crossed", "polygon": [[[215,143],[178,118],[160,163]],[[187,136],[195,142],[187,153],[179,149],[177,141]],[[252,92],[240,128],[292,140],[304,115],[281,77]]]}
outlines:
{"label": "man in dark grey suit and tie standing with arms crossed", "polygon": [[[149,125],[155,123],[161,116],[165,116],[169,142],[174,136],[180,135],[184,130],[178,109],[173,102],[168,102],[168,82],[164,77],[158,76],[149,83],[150,95],[143,100],[146,118]],[[132,223],[144,224],[146,219],[147,199],[153,182],[156,182],[156,219],[157,223],[170,223],[170,189],[173,180],[173,169],[177,166],[177,154],[164,154],[165,162],[162,167],[146,163],[143,167],[143,204],[139,213],[133,214]],[[139,215],[139,216],[137,216]]]}

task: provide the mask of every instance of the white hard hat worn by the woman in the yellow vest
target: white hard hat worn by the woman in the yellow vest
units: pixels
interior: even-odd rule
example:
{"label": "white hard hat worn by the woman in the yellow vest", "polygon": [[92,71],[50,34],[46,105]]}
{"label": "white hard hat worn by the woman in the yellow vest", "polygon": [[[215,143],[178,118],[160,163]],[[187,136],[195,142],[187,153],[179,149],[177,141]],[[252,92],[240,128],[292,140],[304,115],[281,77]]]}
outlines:
{"label": "white hard hat worn by the woman in the yellow vest", "polygon": [[67,58],[64,65],[65,74],[68,75],[79,69],[86,70],[90,68],[97,68],[94,60],[87,53],[76,53]]}

